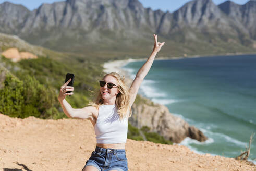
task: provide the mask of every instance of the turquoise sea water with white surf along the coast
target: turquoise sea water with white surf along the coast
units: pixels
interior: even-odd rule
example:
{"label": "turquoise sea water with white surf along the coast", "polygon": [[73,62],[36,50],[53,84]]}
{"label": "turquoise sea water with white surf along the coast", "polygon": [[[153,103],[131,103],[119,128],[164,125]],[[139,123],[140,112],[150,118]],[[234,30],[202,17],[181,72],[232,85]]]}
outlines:
{"label": "turquoise sea water with white surf along the coast", "polygon": [[[143,64],[131,62],[123,69],[134,78]],[[155,60],[139,93],[209,138],[181,142],[197,153],[236,157],[256,133],[256,55]],[[256,158],[256,135],[249,158]]]}

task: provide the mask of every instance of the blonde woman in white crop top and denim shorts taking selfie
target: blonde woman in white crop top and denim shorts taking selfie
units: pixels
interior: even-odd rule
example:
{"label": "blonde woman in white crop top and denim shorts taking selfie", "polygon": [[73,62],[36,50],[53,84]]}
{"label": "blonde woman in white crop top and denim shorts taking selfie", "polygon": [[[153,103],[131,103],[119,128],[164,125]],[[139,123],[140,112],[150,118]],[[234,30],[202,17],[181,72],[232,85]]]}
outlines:
{"label": "blonde woman in white crop top and denim shorts taking selfie", "polygon": [[129,89],[125,86],[124,77],[112,72],[100,81],[100,93],[91,106],[73,109],[65,100],[66,95],[73,94],[66,92],[74,91],[74,87],[67,86],[71,79],[60,88],[58,100],[64,113],[69,118],[89,119],[94,126],[97,144],[83,171],[128,170],[125,144],[131,105],[135,101],[141,82],[152,66],[155,55],[165,43],[157,42],[155,34],[154,38],[153,51],[147,62],[137,72]]}

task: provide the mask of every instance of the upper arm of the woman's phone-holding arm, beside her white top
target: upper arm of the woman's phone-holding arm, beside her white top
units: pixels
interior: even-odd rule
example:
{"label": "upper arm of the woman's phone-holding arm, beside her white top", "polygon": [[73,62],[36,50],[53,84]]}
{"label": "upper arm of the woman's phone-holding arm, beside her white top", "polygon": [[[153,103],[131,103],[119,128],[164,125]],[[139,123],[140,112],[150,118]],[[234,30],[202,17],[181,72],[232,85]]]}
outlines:
{"label": "upper arm of the woman's phone-holding arm, beside her white top", "polygon": [[72,118],[76,119],[93,119],[93,114],[95,113],[96,108],[93,106],[87,106],[84,108],[74,109]]}

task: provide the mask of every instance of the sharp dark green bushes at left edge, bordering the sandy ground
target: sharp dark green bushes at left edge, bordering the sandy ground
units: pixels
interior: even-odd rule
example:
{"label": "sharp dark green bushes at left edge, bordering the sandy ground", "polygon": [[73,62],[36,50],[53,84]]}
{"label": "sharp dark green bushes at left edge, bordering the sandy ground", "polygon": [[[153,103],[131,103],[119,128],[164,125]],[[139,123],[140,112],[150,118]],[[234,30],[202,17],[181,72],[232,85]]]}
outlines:
{"label": "sharp dark green bushes at left edge, bordering the sandy ground", "polygon": [[8,71],[3,72],[5,80],[0,91],[1,113],[18,118],[48,118],[53,111],[59,113],[54,109],[58,101],[51,88],[41,85],[32,76],[26,75],[22,81]]}

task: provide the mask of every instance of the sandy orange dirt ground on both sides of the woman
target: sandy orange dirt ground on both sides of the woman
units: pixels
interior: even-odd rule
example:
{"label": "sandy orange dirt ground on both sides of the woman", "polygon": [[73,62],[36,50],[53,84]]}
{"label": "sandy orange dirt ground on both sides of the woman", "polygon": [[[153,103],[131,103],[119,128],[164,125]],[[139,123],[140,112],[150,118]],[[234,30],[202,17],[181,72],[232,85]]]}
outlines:
{"label": "sandy orange dirt ground on both sides of the woman", "polygon": [[[0,170],[82,170],[95,149],[89,120],[0,114]],[[256,170],[253,163],[200,155],[182,145],[127,139],[129,170]]]}

